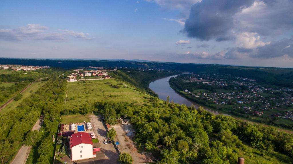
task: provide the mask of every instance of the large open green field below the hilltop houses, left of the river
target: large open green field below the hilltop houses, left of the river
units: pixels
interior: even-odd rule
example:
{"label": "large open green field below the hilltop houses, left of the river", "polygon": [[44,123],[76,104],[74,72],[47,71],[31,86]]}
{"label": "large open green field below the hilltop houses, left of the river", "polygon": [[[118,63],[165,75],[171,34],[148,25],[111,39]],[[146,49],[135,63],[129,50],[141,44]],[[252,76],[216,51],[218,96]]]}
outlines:
{"label": "large open green field below the hilltop houses, left of the river", "polygon": [[[84,83],[85,82],[85,83]],[[110,85],[120,88],[113,88]],[[141,93],[130,85],[123,87],[121,82],[114,79],[92,80],[68,83],[66,105],[64,108],[73,109],[84,104],[94,104],[98,101],[112,100],[114,102],[129,102],[134,104],[148,104],[150,95]]]}

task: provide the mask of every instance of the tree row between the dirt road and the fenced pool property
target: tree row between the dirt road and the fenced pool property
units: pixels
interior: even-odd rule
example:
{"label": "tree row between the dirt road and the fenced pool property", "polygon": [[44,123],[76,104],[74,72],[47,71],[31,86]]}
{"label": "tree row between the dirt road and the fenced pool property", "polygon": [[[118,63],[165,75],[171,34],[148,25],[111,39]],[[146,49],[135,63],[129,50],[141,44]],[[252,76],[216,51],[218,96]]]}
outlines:
{"label": "tree row between the dirt road and the fenced pool property", "polygon": [[[54,160],[54,145],[52,141],[53,135],[57,139],[58,125],[60,121],[60,113],[63,110],[65,91],[67,80],[57,78],[54,83],[48,88],[47,97],[40,100],[44,104],[42,114],[44,115],[44,123],[39,132],[38,139],[30,145],[33,146],[32,155],[29,156],[27,163],[46,164],[53,163]],[[29,139],[29,138],[27,138]]]}

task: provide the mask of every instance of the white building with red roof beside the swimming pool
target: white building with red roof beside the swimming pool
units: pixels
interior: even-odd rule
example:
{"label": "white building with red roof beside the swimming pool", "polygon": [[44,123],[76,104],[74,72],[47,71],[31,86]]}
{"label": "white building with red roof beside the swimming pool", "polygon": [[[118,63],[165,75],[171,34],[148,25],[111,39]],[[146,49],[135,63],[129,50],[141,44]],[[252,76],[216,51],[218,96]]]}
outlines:
{"label": "white building with red roof beside the swimming pool", "polygon": [[93,142],[91,135],[77,132],[70,137],[71,160],[93,158]]}

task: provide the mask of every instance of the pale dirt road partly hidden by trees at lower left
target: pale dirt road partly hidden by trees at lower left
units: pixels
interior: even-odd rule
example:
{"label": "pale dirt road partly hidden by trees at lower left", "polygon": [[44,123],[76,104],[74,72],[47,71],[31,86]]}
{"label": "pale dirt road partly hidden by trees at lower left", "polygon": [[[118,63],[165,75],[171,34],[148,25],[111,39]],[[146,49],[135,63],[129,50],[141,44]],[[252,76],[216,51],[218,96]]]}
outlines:
{"label": "pale dirt road partly hidden by trees at lower left", "polygon": [[[35,125],[32,128],[32,131],[40,130],[42,122],[43,122],[43,116],[41,116],[38,119],[38,121],[35,123]],[[12,160],[11,164],[25,164],[31,149],[32,149],[32,146],[21,146],[16,156]]]}

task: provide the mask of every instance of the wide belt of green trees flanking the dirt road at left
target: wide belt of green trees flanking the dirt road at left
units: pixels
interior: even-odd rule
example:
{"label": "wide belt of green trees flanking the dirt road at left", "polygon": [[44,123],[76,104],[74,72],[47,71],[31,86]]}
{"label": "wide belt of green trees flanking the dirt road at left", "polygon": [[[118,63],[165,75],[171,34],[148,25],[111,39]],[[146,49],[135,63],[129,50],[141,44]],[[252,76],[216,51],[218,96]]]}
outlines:
{"label": "wide belt of green trees flanking the dirt road at left", "polygon": [[[57,126],[54,121],[59,117],[60,110],[53,102],[63,101],[64,98],[59,93],[63,88],[60,88],[64,83],[64,79],[58,77],[50,78],[42,87],[30,97],[24,99],[15,110],[9,110],[0,116],[0,158],[1,163],[8,163],[22,144],[37,146],[37,143],[42,142],[42,136],[50,137],[50,148],[53,146],[51,132],[57,132]],[[38,118],[43,114],[44,124],[40,132],[31,129]],[[56,130],[55,130],[56,129]],[[30,137],[28,137],[30,136]],[[45,139],[48,141],[49,139]],[[48,145],[47,145],[48,146]],[[53,147],[54,148],[54,147]],[[40,151],[41,153],[42,151]],[[52,160],[53,150],[47,151],[46,156],[50,155]],[[43,156],[42,156],[43,157]],[[40,156],[40,159],[44,159]],[[42,162],[40,163],[48,163]]]}

